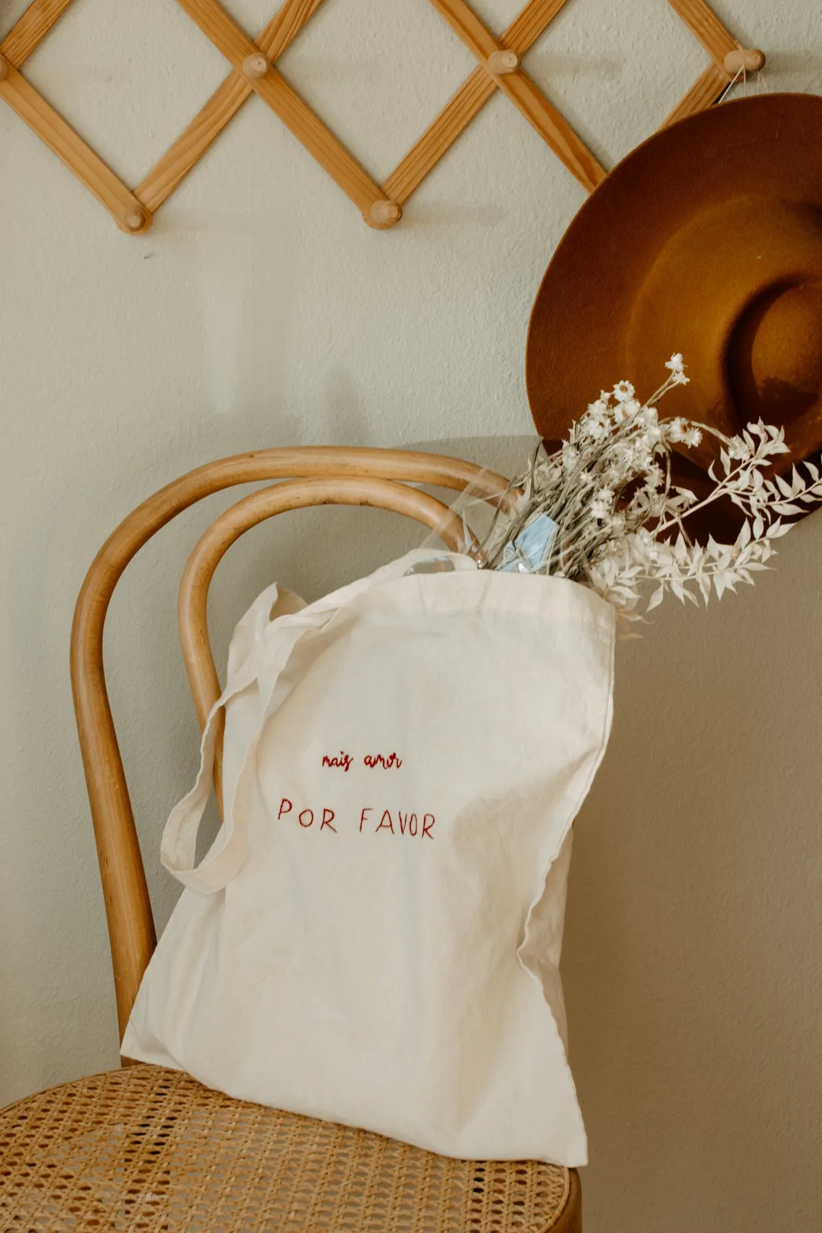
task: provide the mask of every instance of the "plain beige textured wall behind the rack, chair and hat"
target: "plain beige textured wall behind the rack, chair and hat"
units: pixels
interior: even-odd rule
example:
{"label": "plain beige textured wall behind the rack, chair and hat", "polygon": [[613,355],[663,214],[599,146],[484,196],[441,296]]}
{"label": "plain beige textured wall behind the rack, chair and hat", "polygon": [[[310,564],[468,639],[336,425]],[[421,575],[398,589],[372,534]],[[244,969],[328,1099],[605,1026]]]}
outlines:
{"label": "plain beige textured wall behind the rack, chair and hat", "polygon": [[[478,9],[502,26],[521,4]],[[229,7],[253,28],[272,5]],[[717,7],[771,54],[771,89],[822,86],[815,2]],[[22,9],[0,5],[4,28]],[[529,57],[609,160],[702,63],[665,0],[571,0]],[[470,68],[425,0],[328,0],[287,63],[377,175]],[[27,72],[136,181],[223,69],[173,0],[75,0]],[[1,106],[0,128],[1,1101],[117,1058],[68,682],[97,545],[160,483],[243,449],[429,443],[519,460],[529,307],[583,194],[498,97],[405,223],[376,234],[253,100],[128,239]],[[176,578],[218,507],[136,563],[107,647],[160,924],[175,885],[159,835],[196,757]],[[414,541],[385,519],[255,531],[218,580],[218,642],[271,578],[315,597]],[[587,1233],[820,1227],[822,515],[783,544],[755,593],[707,614],[669,604],[620,649],[564,962]]]}

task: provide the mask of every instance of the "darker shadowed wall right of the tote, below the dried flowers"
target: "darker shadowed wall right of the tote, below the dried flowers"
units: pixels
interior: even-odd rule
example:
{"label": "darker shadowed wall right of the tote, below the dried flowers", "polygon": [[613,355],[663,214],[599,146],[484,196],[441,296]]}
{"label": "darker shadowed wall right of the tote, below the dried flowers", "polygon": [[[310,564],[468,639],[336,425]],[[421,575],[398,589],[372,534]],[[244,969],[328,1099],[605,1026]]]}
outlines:
{"label": "darker shadowed wall right of the tote, below the dried flowers", "polygon": [[[529,444],[421,448],[513,475]],[[587,1233],[776,1228],[785,1191],[818,1227],[821,571],[817,513],[755,589],[617,647],[563,956]]]}

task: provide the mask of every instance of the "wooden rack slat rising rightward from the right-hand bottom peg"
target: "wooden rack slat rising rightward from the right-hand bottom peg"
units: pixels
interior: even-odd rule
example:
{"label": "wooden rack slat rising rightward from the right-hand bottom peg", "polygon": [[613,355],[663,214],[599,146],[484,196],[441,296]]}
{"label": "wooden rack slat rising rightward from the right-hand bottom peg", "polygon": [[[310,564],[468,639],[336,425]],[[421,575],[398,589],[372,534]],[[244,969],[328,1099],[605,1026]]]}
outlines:
{"label": "wooden rack slat rising rightward from the right-hand bottom peg", "polygon": [[[500,46],[524,55],[566,4],[567,0],[530,0],[499,39]],[[382,186],[383,191],[401,205],[408,201],[495,89],[497,83],[486,70],[476,68],[391,173]]]}

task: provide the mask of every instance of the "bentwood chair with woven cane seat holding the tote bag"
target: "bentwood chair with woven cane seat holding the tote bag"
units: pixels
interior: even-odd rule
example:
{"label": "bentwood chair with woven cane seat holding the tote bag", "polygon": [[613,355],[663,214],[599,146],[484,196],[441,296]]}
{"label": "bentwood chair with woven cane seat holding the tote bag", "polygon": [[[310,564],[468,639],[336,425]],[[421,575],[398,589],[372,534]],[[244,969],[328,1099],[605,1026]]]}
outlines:
{"label": "bentwood chair with woven cane seat holding the tote bag", "polygon": [[[145,874],[108,707],[102,630],[123,570],[189,506],[238,483],[277,480],[223,513],[180,587],[182,650],[202,725],[219,695],[206,626],[208,586],[248,528],[287,509],[376,506],[457,547],[460,520],[409,487],[481,486],[472,464],[398,450],[281,449],[223,459],[149,497],[97,554],[71,631],[71,683],[106,903],[121,1037],[155,946]],[[219,790],[219,783],[216,784]],[[232,1100],[187,1075],[126,1065],[0,1112],[0,1227],[43,1231],[334,1231],[579,1233],[574,1170],[534,1161],[451,1160],[378,1134]]]}

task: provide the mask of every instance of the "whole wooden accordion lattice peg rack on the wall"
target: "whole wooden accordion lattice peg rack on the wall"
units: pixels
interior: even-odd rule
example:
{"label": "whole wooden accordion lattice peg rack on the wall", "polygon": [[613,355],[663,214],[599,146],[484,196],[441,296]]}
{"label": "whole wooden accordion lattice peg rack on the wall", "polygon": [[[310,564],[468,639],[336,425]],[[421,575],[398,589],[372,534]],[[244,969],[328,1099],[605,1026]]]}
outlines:
{"label": "whole wooden accordion lattice peg rack on the wall", "polygon": [[[176,2],[232,68],[136,189],[128,189],[115,175],[20,72],[71,0],[32,0],[0,42],[0,97],[111,211],[117,226],[128,234],[136,236],[150,227],[154,213],[251,94],[258,94],[271,107],[357,206],[365,221],[381,231],[399,221],[403,205],[495,90],[502,90],[589,192],[606,174],[521,65],[521,57],[567,0],[529,0],[519,17],[499,36],[492,33],[466,0],[429,0],[476,55],[478,65],[385,184],[377,184],[368,175],[275,68],[277,58],[323,0],[286,0],[256,39],[238,26],[218,0]],[[664,125],[711,106],[739,73],[757,72],[765,60],[760,51],[746,48],[732,38],[705,0],[667,2],[700,41],[710,55],[710,64]]]}

